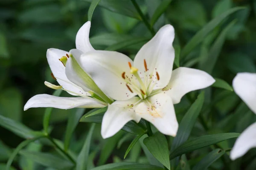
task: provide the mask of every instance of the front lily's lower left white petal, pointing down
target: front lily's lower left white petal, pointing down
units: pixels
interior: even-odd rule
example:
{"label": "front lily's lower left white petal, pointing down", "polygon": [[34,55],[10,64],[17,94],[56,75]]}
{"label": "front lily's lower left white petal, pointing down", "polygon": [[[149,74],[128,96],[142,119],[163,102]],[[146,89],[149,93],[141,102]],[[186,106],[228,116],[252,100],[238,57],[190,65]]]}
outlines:
{"label": "front lily's lower left white petal, pointing down", "polygon": [[140,98],[133,97],[127,101],[115,101],[108,106],[102,119],[102,138],[115,135],[128,121],[140,121],[133,108],[133,104],[139,100]]}

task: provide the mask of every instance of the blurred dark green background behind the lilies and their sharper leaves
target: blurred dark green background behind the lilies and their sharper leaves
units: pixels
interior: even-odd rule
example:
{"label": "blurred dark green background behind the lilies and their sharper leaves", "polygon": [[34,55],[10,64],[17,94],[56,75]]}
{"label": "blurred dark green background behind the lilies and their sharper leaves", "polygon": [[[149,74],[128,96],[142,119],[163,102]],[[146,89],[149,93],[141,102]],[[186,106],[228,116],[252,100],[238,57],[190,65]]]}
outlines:
{"label": "blurred dark green background behind the lilies and their sharper leaves", "polygon": [[[1,115],[22,122],[33,130],[42,130],[45,109],[32,108],[24,112],[23,106],[33,95],[53,93],[52,89],[44,85],[44,81],[56,84],[50,75],[46,51],[49,48],[66,51],[75,48],[76,32],[87,21],[90,2],[91,0],[0,0]],[[161,2],[162,0],[137,0],[148,20]],[[154,29],[157,31],[167,23],[172,24],[176,32],[175,44],[179,43],[183,47],[210,20],[235,6],[246,6],[247,9],[230,15],[186,58],[180,59],[180,66],[207,69],[204,61],[209,55],[212,43],[231,21],[236,20],[234,26],[227,32],[224,46],[211,72],[213,77],[232,84],[236,73],[256,72],[256,0],[173,0],[154,25]],[[96,7],[90,30],[90,41],[95,49],[117,49],[133,58],[140,47],[151,38],[150,32],[144,23],[136,18],[133,11],[125,12],[129,16],[118,14],[124,13],[123,11],[128,7],[134,8],[129,0],[118,0],[115,5],[107,7],[104,3],[100,3],[100,6]],[[122,42],[128,40],[135,40],[135,43],[117,48],[118,44],[122,45]],[[189,95],[195,99],[196,94],[192,92]],[[68,94],[63,92],[62,96],[68,96]],[[239,122],[224,129],[228,121],[224,118],[233,115],[237,106],[242,106],[243,103],[234,92],[216,88],[207,89],[206,102],[210,103],[220,96],[222,96],[221,100],[204,115],[207,123],[212,127],[211,133],[240,133],[255,121],[255,116],[245,107],[244,114],[236,119]],[[181,104],[175,106],[178,121],[188,107],[186,98]],[[76,109],[53,109],[50,124],[52,125],[51,135],[54,138],[64,139],[67,118],[73,112],[76,112]],[[76,128],[70,145],[74,152],[79,152],[81,149],[89,125],[79,123]],[[195,129],[192,132],[194,136],[205,133],[200,125]],[[97,133],[93,135],[95,141],[92,150],[96,150],[99,142],[102,142],[99,130],[100,125],[97,125]],[[22,138],[0,127],[1,163],[7,161],[11,148],[17,147],[21,141],[23,141]],[[123,146],[123,149],[116,150],[116,155],[122,158],[122,153],[125,152],[129,142]],[[41,150],[42,146],[30,147]],[[115,157],[111,156],[108,162],[113,162],[113,159]],[[26,169],[27,165],[24,162],[26,161],[18,164],[16,160],[15,166]]]}

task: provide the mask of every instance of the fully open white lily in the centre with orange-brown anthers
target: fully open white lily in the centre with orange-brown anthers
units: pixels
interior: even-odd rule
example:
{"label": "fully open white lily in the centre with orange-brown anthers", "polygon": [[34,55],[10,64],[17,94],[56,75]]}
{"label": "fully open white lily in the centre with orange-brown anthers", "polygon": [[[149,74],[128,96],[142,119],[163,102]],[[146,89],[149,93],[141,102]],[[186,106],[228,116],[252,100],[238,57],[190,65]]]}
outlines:
{"label": "fully open white lily in the centre with orange-brown anthers", "polygon": [[[78,62],[105,92],[115,99],[102,120],[102,137],[117,133],[128,121],[141,118],[161,133],[175,136],[178,129],[173,104],[188,92],[212,85],[215,80],[198,69],[172,71],[174,28],[163,26],[137,53],[134,62],[119,52],[90,51]],[[138,95],[138,97],[135,97]]]}

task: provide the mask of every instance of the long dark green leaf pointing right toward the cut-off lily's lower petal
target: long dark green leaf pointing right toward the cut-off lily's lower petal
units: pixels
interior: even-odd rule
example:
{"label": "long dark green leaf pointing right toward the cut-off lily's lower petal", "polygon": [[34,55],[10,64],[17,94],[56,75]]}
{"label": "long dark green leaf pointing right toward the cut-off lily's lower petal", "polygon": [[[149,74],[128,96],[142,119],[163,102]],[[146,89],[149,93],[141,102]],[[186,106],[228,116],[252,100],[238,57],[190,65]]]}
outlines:
{"label": "long dark green leaf pointing right toward the cut-off lily's lower petal", "polygon": [[189,141],[184,142],[170,154],[170,159],[175,158],[176,156],[180,156],[184,153],[189,153],[193,150],[198,150],[202,147],[207,147],[212,144],[217,144],[221,141],[225,141],[230,138],[237,138],[239,133],[220,133],[215,135],[204,135],[198,138],[191,139]]}

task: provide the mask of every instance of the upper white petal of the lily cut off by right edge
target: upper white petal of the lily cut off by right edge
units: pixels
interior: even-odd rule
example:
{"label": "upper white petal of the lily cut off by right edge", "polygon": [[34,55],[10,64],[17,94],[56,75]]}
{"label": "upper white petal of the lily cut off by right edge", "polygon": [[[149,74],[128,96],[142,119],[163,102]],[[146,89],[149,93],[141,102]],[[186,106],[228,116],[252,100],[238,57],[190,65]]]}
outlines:
{"label": "upper white petal of the lily cut off by right edge", "polygon": [[256,73],[238,73],[233,80],[234,91],[256,114]]}

